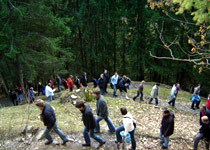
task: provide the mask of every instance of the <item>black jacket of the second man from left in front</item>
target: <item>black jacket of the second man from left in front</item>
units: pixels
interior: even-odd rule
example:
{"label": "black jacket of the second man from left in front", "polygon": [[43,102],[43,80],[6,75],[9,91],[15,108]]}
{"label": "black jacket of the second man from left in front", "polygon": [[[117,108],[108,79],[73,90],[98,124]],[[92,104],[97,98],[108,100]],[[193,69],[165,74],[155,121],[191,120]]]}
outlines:
{"label": "black jacket of the second man from left in front", "polygon": [[87,105],[85,105],[84,110],[82,112],[82,121],[84,126],[86,127],[86,130],[89,131],[90,129],[94,129],[96,127],[96,120],[93,116],[93,113],[91,111],[91,108]]}

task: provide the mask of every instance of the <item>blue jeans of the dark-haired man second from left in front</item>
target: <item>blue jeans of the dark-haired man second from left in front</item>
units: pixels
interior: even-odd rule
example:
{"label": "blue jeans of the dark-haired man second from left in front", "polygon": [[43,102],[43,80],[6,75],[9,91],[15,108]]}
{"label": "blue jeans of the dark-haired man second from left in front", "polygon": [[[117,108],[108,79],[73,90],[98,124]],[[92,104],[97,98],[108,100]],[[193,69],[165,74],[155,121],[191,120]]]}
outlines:
{"label": "blue jeans of the dark-haired man second from left in front", "polygon": [[98,141],[99,143],[104,143],[104,140],[103,139],[101,139],[100,137],[98,137],[98,136],[96,136],[95,134],[94,134],[94,129],[90,129],[90,136],[89,136],[89,134],[88,134],[88,132],[87,132],[87,129],[86,129],[86,127],[84,128],[84,130],[83,130],[83,136],[84,136],[84,138],[85,138],[85,143],[86,144],[90,144],[91,143],[91,141],[90,141],[90,137],[92,137],[93,139],[95,139],[96,141]]}

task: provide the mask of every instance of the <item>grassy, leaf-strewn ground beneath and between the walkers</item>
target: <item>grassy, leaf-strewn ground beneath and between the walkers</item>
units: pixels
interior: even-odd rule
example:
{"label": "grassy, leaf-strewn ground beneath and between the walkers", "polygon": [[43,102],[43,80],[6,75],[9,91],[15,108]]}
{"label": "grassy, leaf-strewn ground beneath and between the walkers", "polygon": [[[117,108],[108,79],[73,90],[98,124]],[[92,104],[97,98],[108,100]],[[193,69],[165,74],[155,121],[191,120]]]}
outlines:
{"label": "grassy, leaf-strewn ground beneath and between the walkers", "polygon": [[[144,89],[144,102],[138,100],[133,101],[132,97],[136,94],[137,83],[131,85],[128,90],[130,100],[122,98],[112,98],[112,89],[108,89],[108,94],[105,96],[109,107],[109,118],[118,127],[121,125],[122,116],[120,108],[126,107],[129,112],[134,116],[137,122],[135,137],[137,141],[137,150],[159,150],[159,128],[162,119],[163,107],[168,107],[167,101],[169,100],[170,86],[162,85],[159,92],[159,105],[155,107],[152,104],[147,104],[151,84],[147,84]],[[92,88],[91,88],[92,89]],[[92,140],[90,148],[83,148],[83,123],[81,121],[81,113],[70,102],[62,104],[59,102],[61,94],[64,92],[56,93],[55,100],[50,102],[55,108],[55,113],[58,120],[58,127],[68,135],[72,140],[66,146],[57,145],[62,143],[58,135],[52,133],[54,137],[53,144],[45,146],[45,140],[38,141],[41,133],[44,130],[43,123],[39,120],[40,111],[33,104],[2,107],[0,109],[0,149],[27,149],[27,150],[56,150],[56,149],[96,149],[98,143]],[[74,93],[75,94],[75,93]],[[78,94],[78,100],[83,97]],[[119,95],[119,91],[117,93]],[[176,101],[175,109],[171,111],[175,114],[175,131],[171,136],[169,143],[169,150],[190,150],[193,147],[193,137],[199,130],[199,110],[191,110],[191,101],[189,98],[191,94],[185,91],[180,91]],[[37,97],[37,98],[43,98]],[[45,98],[46,99],[46,98]],[[202,99],[204,103],[205,99]],[[95,114],[95,100],[87,104],[92,108]],[[153,101],[154,103],[154,101]],[[25,126],[27,132],[24,132]],[[98,134],[102,137],[106,144],[101,149],[115,150],[117,149],[114,143],[116,136],[108,131],[108,127],[104,121],[100,122],[101,133]],[[126,144],[126,148],[130,147]],[[200,150],[204,149],[204,143],[200,142]]]}

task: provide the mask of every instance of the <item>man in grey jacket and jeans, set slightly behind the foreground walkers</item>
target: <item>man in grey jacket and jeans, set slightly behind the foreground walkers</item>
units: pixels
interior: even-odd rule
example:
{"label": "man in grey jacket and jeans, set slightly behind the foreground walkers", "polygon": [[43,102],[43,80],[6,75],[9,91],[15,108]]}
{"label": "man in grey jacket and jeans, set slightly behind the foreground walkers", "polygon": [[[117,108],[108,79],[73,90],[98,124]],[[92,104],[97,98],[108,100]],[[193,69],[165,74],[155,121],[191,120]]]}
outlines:
{"label": "man in grey jacket and jeans, set slightly behind the foreground walkers", "polygon": [[106,101],[104,100],[104,98],[101,96],[100,91],[95,90],[93,92],[93,97],[96,99],[96,114],[97,114],[97,118],[96,118],[96,128],[95,128],[95,133],[99,133],[100,132],[100,125],[99,122],[101,120],[104,119],[104,121],[106,121],[108,127],[109,127],[109,131],[110,132],[115,132],[115,127],[113,125],[113,123],[111,122],[111,120],[109,119],[109,111],[108,111],[108,107],[106,104]]}

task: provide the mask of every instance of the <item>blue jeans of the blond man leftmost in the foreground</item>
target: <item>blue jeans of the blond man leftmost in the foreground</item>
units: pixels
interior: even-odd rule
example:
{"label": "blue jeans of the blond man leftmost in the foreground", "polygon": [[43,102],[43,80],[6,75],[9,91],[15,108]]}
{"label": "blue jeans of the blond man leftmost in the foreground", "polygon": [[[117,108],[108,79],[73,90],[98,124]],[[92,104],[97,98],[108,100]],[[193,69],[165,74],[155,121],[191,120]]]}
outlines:
{"label": "blue jeans of the blond man leftmost in the foreground", "polygon": [[55,133],[57,133],[64,142],[68,141],[68,138],[63,134],[63,132],[60,129],[58,129],[56,122],[51,129],[46,128],[44,131],[44,136],[46,137],[46,139],[48,139],[48,141],[53,141],[52,136],[50,135],[51,130],[54,130]]}

